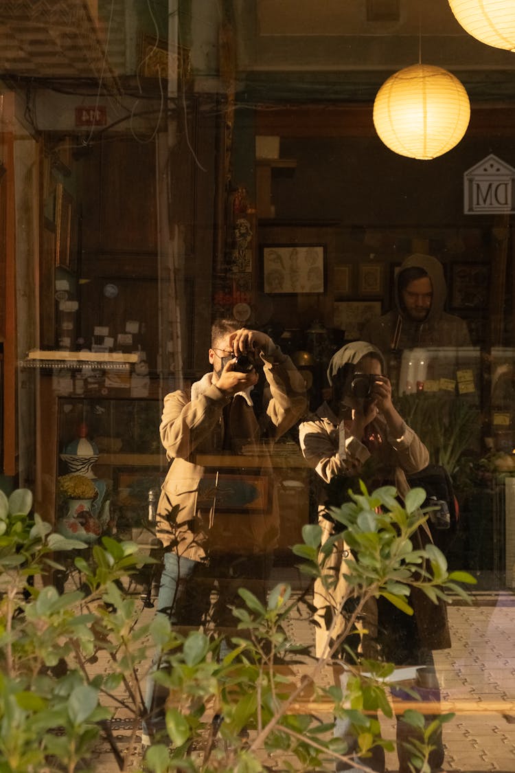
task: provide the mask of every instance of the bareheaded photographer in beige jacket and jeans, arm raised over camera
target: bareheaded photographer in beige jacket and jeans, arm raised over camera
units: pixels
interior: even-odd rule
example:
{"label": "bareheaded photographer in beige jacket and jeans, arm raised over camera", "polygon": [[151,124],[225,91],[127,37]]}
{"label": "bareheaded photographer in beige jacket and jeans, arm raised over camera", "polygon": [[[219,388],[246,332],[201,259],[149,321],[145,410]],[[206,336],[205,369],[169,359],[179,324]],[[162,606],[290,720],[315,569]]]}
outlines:
{"label": "bareheaded photographer in beige jacket and jeans, arm raised over camera", "polygon": [[[158,502],[157,608],[176,625],[211,623],[228,635],[239,587],[266,598],[280,531],[270,455],[307,410],[307,396],[290,357],[264,332],[219,320],[208,357],[212,372],[164,397],[159,431],[171,465]],[[163,724],[166,696],[148,680],[144,744]]]}

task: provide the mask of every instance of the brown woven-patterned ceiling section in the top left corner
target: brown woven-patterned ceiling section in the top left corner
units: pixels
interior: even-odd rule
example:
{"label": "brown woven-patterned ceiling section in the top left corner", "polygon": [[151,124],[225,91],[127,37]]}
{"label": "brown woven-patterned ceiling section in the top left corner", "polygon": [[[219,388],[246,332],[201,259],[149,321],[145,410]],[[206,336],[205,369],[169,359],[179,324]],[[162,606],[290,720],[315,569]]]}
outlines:
{"label": "brown woven-patterned ceiling section in the top left corner", "polygon": [[2,0],[0,74],[115,78],[88,0]]}

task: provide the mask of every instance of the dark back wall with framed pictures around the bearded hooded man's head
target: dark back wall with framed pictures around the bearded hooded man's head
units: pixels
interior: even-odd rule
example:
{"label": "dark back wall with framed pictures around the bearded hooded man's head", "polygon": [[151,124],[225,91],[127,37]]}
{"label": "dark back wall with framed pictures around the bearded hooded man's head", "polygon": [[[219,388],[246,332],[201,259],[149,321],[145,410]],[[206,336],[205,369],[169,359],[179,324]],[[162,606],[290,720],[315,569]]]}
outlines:
{"label": "dark back wall with framed pictures around the bearded hooded man's head", "polygon": [[[494,245],[488,233],[476,226],[357,229],[332,222],[262,220],[260,287],[269,322],[286,329],[317,322],[329,331],[343,332],[345,340],[356,339],[364,322],[393,307],[395,276],[402,261],[414,253],[431,254],[442,262],[447,310],[466,320],[473,345],[481,346],[489,335]],[[314,292],[306,291],[305,280],[301,286],[300,281],[295,284],[287,278],[292,257],[297,276],[306,276],[314,255],[308,256],[307,250],[319,251],[318,267],[324,252],[324,284],[320,282]],[[276,277],[279,272],[281,281]]]}

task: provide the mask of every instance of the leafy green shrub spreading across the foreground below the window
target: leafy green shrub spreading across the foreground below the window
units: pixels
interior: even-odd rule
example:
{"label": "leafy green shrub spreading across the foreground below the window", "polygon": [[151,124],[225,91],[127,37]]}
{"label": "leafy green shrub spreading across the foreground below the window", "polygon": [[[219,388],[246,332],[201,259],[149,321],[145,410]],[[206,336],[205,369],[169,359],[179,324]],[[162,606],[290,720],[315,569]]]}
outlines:
{"label": "leafy green shrub spreading across the foreground below the window", "polygon": [[[51,570],[62,568],[55,557],[59,551],[85,546],[52,533],[36,514],[30,516],[30,492],[14,492],[8,500],[0,494],[0,773],[94,769],[88,768],[88,759],[100,735],[120,771],[126,771],[136,729],[120,749],[103,696],[117,693],[116,700],[132,707],[135,718],[144,717],[141,678],[155,647],[167,666],[154,674],[168,689],[166,734],[147,750],[146,771],[264,771],[263,749],[277,755],[276,770],[332,770],[335,760],[346,759],[347,744],[333,737],[334,721],[303,708],[308,688],[310,700],[319,702],[324,714],[347,717],[365,759],[374,744],[391,748],[380,737],[374,713],[391,716],[385,679],[393,666],[351,662],[345,690],[320,687],[318,676],[356,630],[367,598],[384,595],[410,614],[410,588],[419,587],[437,600],[449,590],[463,593],[459,583],[472,581],[464,573],[449,574],[436,548],[413,548],[411,537],[425,517],[419,510],[424,498],[422,490],[415,490],[402,507],[394,489],[369,495],[362,488],[361,495],[334,511],[357,559],[347,567],[347,598],[359,601],[350,614],[343,606],[335,609],[335,617],[345,615],[344,631],[324,658],[310,660],[297,683],[286,668],[301,654],[286,634],[285,624],[298,603],[288,585],[277,585],[266,605],[249,591],[239,591],[246,604],[234,610],[241,635],[232,638],[232,651],[221,658],[221,638],[198,631],[181,635],[164,615],[149,625],[134,625],[136,601],[123,583],[149,561],[137,554],[134,543],[104,537],[93,547],[91,564],[77,555],[79,590],[59,594],[52,584],[43,584]],[[320,545],[320,527],[305,526],[303,538],[294,548],[303,571],[330,591],[334,574],[324,567],[330,547]],[[108,674],[98,673],[92,663],[100,651],[110,658]],[[424,732],[413,750],[423,773],[432,730]]]}

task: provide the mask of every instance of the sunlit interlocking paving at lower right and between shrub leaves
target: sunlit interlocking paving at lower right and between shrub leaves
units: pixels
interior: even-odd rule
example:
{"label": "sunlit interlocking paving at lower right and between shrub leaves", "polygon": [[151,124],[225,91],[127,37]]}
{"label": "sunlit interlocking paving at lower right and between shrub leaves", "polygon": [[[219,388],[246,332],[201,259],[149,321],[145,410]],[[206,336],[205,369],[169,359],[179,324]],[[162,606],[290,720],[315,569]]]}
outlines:
{"label": "sunlit interlocking paving at lower right and between shrub leaves", "polygon": [[[153,614],[145,610],[143,615]],[[442,711],[454,718],[444,728],[445,771],[486,773],[515,771],[515,596],[508,592],[477,594],[472,606],[451,605],[451,649],[435,652],[442,686]],[[311,642],[307,616],[289,622],[292,638]],[[99,669],[107,663],[99,662]],[[326,674],[325,678],[330,676]],[[329,682],[328,682],[329,683]],[[112,727],[127,737],[130,722],[119,708]],[[395,721],[381,720],[386,737],[395,737]],[[138,736],[139,739],[139,736]],[[127,770],[139,768],[137,743]],[[273,769],[274,762],[268,764]],[[395,754],[387,755],[388,771],[397,769]],[[119,770],[102,744],[97,755],[101,773]]]}

